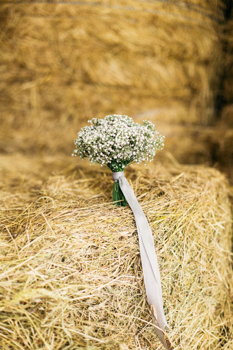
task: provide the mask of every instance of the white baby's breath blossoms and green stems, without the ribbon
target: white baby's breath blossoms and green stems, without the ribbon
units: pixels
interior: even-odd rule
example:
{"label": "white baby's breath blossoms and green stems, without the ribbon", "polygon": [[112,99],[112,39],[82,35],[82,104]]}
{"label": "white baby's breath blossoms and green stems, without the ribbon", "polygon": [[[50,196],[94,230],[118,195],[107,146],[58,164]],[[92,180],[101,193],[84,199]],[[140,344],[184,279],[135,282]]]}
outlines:
{"label": "white baby's breath blossoms and green stems, without the ribbon", "polygon": [[[77,149],[72,155],[87,157],[90,164],[100,164],[112,172],[122,172],[135,162],[151,162],[156,151],[164,146],[164,137],[151,121],[139,124],[128,116],[113,114],[88,122],[91,125],[83,127],[74,140]],[[117,205],[127,205],[118,181],[114,182],[112,199]]]}

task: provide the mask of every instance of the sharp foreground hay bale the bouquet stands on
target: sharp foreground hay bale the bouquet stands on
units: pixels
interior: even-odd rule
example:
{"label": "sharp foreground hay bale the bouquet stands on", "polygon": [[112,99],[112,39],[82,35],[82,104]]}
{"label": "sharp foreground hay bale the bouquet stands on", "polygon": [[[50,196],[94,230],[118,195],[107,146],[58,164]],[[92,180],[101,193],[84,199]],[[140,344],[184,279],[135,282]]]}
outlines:
{"label": "sharp foreground hay bale the bouquet stands on", "polygon": [[[162,349],[145,300],[132,212],[109,203],[107,170],[80,164],[76,175],[53,175],[23,198],[24,184],[12,188],[8,179],[14,205],[1,208],[1,348]],[[159,162],[125,172],[151,224],[174,348],[231,349],[225,177],[204,166]],[[7,174],[17,177],[5,161]]]}

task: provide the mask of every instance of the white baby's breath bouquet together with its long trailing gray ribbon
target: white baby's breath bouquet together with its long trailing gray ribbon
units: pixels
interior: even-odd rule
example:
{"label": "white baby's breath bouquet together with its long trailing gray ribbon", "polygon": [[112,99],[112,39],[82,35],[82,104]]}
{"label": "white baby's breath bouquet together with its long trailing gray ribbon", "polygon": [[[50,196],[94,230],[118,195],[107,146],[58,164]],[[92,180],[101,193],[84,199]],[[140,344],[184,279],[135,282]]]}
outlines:
{"label": "white baby's breath bouquet together with its long trailing gray ribbon", "polygon": [[124,168],[132,163],[146,164],[164,146],[164,137],[151,121],[134,123],[128,116],[109,115],[93,118],[92,125],[83,127],[74,141],[73,155],[89,158],[90,164],[100,164],[113,173],[112,198],[116,205],[127,203],[133,211],[139,237],[139,247],[148,303],[156,333],[167,350],[172,349],[165,332],[168,324],[163,312],[162,288],[154,240],[145,214],[124,176]]}

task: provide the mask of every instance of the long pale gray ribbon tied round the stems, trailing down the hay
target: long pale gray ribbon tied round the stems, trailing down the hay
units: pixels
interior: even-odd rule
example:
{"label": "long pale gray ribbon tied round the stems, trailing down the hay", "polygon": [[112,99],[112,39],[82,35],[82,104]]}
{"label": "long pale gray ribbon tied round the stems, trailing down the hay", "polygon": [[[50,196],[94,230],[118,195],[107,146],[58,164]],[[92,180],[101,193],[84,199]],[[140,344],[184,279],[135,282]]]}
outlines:
{"label": "long pale gray ribbon tied round the stems, trailing down the hay", "polygon": [[163,311],[162,287],[159,273],[159,265],[154,247],[154,239],[146,216],[137,201],[136,196],[124,176],[124,172],[113,172],[114,182],[119,181],[119,186],[132,209],[139,238],[141,264],[143,278],[146,287],[146,296],[151,307],[151,316],[156,333],[161,343],[167,350],[172,349],[167,338],[164,324],[169,328]]}

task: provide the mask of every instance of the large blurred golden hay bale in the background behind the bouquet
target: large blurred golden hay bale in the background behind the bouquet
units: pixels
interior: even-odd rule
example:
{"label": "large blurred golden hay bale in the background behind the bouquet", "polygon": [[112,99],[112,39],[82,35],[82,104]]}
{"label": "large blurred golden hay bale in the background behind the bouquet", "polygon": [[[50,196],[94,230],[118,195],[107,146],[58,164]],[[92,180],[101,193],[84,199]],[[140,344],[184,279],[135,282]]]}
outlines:
{"label": "large blurred golden hay bale in the background behind the bouquet", "polygon": [[109,113],[169,107],[156,120],[212,124],[222,19],[217,0],[6,1],[2,152],[70,151],[76,130]]}

